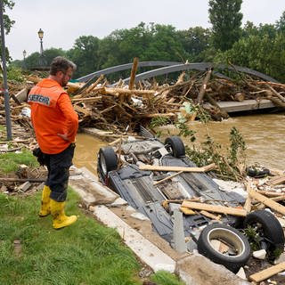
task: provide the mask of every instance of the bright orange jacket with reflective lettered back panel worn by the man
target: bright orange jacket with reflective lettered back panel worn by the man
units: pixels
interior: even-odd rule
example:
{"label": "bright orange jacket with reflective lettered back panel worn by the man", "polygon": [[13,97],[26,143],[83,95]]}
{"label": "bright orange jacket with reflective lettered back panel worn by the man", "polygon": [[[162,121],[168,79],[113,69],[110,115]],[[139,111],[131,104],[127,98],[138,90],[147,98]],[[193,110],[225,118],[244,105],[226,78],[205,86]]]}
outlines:
{"label": "bright orange jacket with reflective lettered back panel worn by the man", "polygon": [[[77,112],[73,110],[69,94],[59,83],[46,78],[34,86],[28,94],[31,120],[37,143],[44,153],[56,154],[75,142],[78,129]],[[69,141],[58,134],[68,134]]]}

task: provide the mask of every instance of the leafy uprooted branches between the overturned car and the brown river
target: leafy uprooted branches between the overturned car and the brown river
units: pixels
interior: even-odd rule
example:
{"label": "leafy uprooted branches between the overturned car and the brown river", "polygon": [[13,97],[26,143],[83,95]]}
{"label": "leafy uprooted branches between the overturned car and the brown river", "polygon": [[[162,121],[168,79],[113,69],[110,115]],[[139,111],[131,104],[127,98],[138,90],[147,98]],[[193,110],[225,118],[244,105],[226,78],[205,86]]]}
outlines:
{"label": "leafy uprooted branches between the overturned car and the brown river", "polygon": [[230,142],[230,147],[223,150],[221,144],[207,136],[206,141],[199,146],[186,146],[186,153],[198,167],[215,163],[217,176],[240,181],[245,175],[246,145],[235,127],[232,127]]}

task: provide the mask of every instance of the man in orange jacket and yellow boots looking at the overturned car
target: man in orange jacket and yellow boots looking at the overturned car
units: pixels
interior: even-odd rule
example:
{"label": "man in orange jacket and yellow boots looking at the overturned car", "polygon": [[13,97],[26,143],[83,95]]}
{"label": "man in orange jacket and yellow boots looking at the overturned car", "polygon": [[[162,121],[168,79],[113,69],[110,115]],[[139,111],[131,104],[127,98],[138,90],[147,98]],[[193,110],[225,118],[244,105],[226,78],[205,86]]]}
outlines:
{"label": "man in orange jacket and yellow boots looking at the overturned car", "polygon": [[77,216],[65,216],[64,208],[78,116],[69,94],[62,88],[68,84],[75,69],[72,61],[61,56],[54,58],[49,77],[40,81],[28,94],[32,125],[48,169],[39,216],[52,214],[54,229],[77,221]]}

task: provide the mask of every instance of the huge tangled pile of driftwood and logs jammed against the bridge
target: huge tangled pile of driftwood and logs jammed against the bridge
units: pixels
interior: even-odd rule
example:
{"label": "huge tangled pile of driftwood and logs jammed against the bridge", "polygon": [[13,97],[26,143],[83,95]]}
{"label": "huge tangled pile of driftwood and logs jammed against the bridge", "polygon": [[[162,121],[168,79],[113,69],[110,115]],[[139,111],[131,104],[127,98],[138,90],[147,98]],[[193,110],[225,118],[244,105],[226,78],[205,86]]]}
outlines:
{"label": "huge tangled pile of driftwood and logs jammed against the bridge", "polygon": [[[28,84],[24,87],[27,95],[31,84],[41,78],[27,77]],[[18,100],[23,90],[17,85],[10,87],[12,96],[12,118],[19,116],[27,102]],[[197,110],[205,110],[215,119],[228,118],[228,114],[219,107],[220,101],[244,101],[262,99],[273,102],[276,107],[285,108],[285,85],[265,82],[243,77],[238,81],[225,77],[216,77],[212,69],[205,72],[183,72],[173,84],[159,85],[156,81],[138,82],[134,84],[134,72],[129,84],[118,82],[109,85],[108,80],[97,77],[92,84],[69,83],[67,92],[70,94],[74,109],[79,116],[82,127],[90,126],[118,134],[126,129],[134,130],[137,123],[148,126],[153,118],[167,118],[168,123],[175,123],[179,114],[185,115],[185,104],[190,106],[191,113],[186,119],[199,119]],[[0,99],[3,102],[3,98]],[[19,102],[20,101],[20,102]],[[4,114],[4,103],[0,114]]]}

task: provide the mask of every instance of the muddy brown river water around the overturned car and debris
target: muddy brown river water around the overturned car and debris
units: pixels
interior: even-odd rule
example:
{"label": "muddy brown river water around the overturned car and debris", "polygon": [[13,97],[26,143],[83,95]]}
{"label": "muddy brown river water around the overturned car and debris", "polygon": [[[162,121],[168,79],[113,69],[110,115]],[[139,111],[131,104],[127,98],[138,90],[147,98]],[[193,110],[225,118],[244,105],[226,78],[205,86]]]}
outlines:
{"label": "muddy brown river water around the overturned car and debris", "polygon": [[[198,121],[191,122],[190,128],[196,131],[197,142],[204,142],[209,134],[215,142],[225,147],[229,145],[229,134],[235,126],[242,134],[247,146],[248,165],[258,163],[264,167],[283,170],[285,158],[285,114],[258,114],[233,117],[223,122],[210,122],[208,126]],[[177,134],[172,126],[163,127],[162,137]],[[189,144],[187,139],[183,139]],[[102,142],[90,134],[77,134],[77,148],[73,163],[76,167],[86,167],[96,173],[96,157],[100,147],[108,142]]]}

